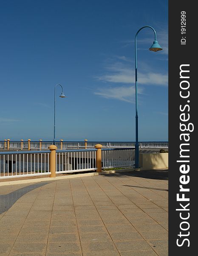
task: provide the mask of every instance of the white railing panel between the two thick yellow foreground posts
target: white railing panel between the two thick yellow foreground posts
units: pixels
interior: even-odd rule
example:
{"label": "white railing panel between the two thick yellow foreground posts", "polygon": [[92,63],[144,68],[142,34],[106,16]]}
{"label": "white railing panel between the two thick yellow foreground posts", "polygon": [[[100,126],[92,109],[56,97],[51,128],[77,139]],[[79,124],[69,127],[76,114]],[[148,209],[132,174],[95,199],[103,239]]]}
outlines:
{"label": "white railing panel between the two thick yellow foreground posts", "polygon": [[56,173],[95,171],[96,149],[57,150]]}

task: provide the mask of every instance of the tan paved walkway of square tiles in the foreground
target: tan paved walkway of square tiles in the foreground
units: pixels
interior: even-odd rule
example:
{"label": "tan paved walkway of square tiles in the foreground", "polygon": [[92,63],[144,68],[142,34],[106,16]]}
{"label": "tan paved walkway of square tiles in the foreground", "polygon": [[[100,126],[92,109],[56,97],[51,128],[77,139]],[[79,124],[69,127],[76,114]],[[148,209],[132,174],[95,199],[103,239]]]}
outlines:
{"label": "tan paved walkway of square tiles in the foreground", "polygon": [[168,256],[167,173],[1,186],[0,256]]}

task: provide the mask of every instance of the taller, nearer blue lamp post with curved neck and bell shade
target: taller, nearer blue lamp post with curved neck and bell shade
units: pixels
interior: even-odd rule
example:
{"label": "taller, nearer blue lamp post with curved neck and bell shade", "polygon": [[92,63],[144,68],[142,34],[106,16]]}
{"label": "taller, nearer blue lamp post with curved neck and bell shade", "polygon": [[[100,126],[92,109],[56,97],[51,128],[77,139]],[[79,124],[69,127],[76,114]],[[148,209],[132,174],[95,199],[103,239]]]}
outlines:
{"label": "taller, nearer blue lamp post with curved neck and bell shade", "polygon": [[[141,29],[144,29],[144,28],[152,29],[154,34],[155,34],[155,39],[154,39],[154,42],[153,42],[152,46],[150,47],[150,51],[153,51],[153,52],[161,51],[162,48],[158,44],[155,29],[153,29],[152,26],[143,26]],[[138,76],[137,76],[137,74],[138,74],[138,71],[137,71],[137,35],[139,34],[141,29],[138,30],[138,32],[136,33],[136,36],[135,36],[135,73],[136,73],[136,145],[135,145],[135,168],[136,169],[139,168],[138,105],[137,105],[137,94],[138,94],[138,92],[137,92],[137,86],[138,86]]]}

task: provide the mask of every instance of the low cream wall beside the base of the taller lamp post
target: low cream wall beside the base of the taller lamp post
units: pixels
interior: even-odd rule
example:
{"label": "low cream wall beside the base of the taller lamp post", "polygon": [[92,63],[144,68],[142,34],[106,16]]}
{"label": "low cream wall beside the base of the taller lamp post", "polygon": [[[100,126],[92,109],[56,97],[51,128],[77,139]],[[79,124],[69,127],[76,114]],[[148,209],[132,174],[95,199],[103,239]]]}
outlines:
{"label": "low cream wall beside the base of the taller lamp post", "polygon": [[140,153],[139,166],[144,170],[167,168],[168,153]]}

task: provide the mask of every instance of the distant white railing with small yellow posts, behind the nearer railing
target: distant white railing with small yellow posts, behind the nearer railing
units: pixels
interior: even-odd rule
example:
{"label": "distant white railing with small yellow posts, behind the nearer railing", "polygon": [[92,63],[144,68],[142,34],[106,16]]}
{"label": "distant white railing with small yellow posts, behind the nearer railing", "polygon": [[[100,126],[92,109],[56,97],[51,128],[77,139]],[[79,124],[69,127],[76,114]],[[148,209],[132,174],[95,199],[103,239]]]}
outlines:
{"label": "distant white railing with small yellow posts, behind the nearer railing", "polygon": [[[3,140],[0,141],[0,149],[10,150],[46,150],[50,145],[52,145],[52,141],[11,141],[11,140]],[[82,149],[82,148],[95,148],[96,144],[101,144],[103,148],[135,148],[135,142],[100,142],[94,141],[89,142],[85,141],[57,141],[55,145],[57,149]],[[168,142],[139,142],[139,148],[168,148]]]}

